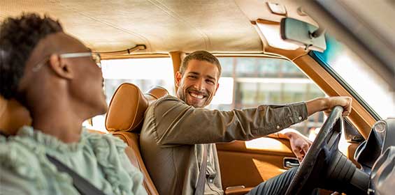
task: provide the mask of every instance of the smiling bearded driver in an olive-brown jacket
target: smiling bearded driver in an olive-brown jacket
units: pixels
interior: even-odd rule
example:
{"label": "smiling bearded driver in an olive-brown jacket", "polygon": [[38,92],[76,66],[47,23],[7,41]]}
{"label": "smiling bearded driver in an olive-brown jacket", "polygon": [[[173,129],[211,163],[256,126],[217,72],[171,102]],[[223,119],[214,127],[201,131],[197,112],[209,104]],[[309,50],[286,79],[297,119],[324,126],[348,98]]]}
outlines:
{"label": "smiling bearded driver in an olive-brown jacket", "polygon": [[[215,56],[193,52],[175,75],[177,97],[161,98],[145,112],[141,150],[159,194],[223,194],[214,143],[263,137],[336,105],[344,108],[343,116],[350,114],[351,98],[346,97],[232,111],[204,109],[213,100],[220,75]],[[311,142],[296,131],[282,133],[302,159]],[[207,168],[199,185],[202,162],[207,162]],[[284,194],[295,172],[291,169],[262,182],[249,194]]]}

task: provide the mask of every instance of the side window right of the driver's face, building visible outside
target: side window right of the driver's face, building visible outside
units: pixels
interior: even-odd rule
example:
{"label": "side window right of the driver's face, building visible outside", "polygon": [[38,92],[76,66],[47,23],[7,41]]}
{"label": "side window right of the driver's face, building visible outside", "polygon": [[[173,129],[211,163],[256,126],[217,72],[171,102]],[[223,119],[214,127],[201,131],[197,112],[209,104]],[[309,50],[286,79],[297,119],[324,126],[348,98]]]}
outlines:
{"label": "side window right of the driver's face, building visible outside", "polygon": [[[242,109],[259,104],[285,104],[324,97],[313,81],[286,59],[259,57],[220,57],[220,88],[210,109]],[[310,139],[322,126],[324,114],[293,125]]]}

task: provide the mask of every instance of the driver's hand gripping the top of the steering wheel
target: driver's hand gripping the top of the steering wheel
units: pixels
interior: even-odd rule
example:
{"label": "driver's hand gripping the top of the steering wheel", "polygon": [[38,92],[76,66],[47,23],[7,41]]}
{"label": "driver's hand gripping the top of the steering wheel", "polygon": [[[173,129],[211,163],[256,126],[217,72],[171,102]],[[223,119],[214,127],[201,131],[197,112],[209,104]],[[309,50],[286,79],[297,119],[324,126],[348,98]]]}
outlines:
{"label": "driver's hand gripping the top of the steering wheel", "polygon": [[306,102],[308,116],[315,114],[317,111],[324,111],[326,115],[330,114],[333,107],[343,107],[343,117],[350,115],[351,112],[350,97],[330,97],[330,98],[317,98]]}

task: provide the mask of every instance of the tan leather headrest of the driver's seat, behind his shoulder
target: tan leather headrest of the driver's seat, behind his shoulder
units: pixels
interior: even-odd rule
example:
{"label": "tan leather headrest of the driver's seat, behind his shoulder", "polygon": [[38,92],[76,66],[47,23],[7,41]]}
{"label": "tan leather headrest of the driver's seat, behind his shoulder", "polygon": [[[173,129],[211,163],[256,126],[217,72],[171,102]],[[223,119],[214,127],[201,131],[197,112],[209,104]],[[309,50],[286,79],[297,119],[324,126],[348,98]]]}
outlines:
{"label": "tan leather headrest of the driver's seat, behind his shoulder", "polygon": [[168,95],[166,89],[155,87],[146,95],[134,84],[121,84],[111,99],[106,115],[106,129],[109,132],[138,132],[143,125],[145,110],[150,102]]}

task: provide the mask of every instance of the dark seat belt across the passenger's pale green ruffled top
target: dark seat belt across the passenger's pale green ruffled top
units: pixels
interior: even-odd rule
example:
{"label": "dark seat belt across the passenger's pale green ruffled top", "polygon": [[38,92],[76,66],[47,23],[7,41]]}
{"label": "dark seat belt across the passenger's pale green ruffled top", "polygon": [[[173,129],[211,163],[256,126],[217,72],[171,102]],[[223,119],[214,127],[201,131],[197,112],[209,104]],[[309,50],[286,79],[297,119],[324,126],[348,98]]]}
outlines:
{"label": "dark seat belt across the passenger's pale green ruffled top", "polygon": [[97,189],[92,183],[89,181],[85,180],[82,178],[78,173],[75,171],[71,170],[69,166],[66,166],[62,162],[60,162],[58,159],[55,157],[52,157],[47,154],[48,159],[52,164],[54,164],[57,167],[58,171],[61,172],[66,172],[73,178],[73,186],[76,187],[77,191],[80,192],[82,195],[90,195],[90,194],[98,194],[98,195],[105,195],[103,192],[101,192],[100,189]]}

